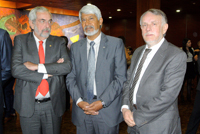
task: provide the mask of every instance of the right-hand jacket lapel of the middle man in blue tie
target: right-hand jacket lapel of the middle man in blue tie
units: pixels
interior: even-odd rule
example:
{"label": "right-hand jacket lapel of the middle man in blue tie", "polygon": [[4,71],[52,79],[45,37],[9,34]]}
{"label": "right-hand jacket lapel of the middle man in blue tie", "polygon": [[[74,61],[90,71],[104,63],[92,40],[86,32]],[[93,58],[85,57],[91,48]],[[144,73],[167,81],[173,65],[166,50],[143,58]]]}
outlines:
{"label": "right-hand jacket lapel of the middle man in blue tie", "polygon": [[96,63],[96,72],[99,69],[102,61],[106,56],[106,50],[108,49],[108,39],[106,38],[106,35],[104,33],[101,33],[101,41],[100,41],[100,46],[99,46],[99,52],[98,52],[98,57],[97,57],[97,63]]}

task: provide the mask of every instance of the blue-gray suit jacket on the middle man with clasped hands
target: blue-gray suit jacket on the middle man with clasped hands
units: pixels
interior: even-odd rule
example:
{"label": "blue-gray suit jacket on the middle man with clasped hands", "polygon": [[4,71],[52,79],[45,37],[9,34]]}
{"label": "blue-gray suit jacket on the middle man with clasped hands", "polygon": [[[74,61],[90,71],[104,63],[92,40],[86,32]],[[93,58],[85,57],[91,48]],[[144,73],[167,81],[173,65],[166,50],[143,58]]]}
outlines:
{"label": "blue-gray suit jacket on the middle man with clasped hands", "polygon": [[[66,79],[67,89],[73,99],[72,122],[80,126],[85,118],[84,111],[76,105],[82,97],[87,101],[87,39],[71,46],[72,71]],[[122,88],[126,81],[126,57],[121,39],[102,33],[96,63],[97,100],[102,99],[106,108],[99,111],[105,123],[112,127],[123,118],[120,111]]]}

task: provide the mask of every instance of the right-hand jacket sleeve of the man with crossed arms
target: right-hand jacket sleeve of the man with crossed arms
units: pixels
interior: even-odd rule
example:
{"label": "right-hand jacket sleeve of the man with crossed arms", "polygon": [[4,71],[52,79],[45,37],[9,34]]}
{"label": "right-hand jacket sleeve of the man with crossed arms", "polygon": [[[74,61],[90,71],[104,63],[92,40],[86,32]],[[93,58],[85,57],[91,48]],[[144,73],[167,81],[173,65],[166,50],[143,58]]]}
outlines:
{"label": "right-hand jacket sleeve of the man with crossed arms", "polygon": [[62,39],[62,41],[60,42],[60,52],[61,52],[60,58],[64,58],[64,62],[44,64],[47,70],[47,74],[66,75],[71,72],[72,64],[69,55],[67,53],[67,48],[64,39]]}

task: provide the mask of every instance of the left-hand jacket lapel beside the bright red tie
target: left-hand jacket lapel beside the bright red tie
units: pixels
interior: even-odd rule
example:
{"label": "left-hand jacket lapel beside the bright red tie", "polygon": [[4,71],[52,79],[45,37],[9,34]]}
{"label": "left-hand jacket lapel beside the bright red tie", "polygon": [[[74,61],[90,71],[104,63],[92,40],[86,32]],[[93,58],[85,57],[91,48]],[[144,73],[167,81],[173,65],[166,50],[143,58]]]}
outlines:
{"label": "left-hand jacket lapel beside the bright red tie", "polygon": [[28,53],[32,55],[31,62],[38,64],[39,63],[38,49],[32,32],[29,34],[27,38],[27,44],[28,44],[27,46]]}

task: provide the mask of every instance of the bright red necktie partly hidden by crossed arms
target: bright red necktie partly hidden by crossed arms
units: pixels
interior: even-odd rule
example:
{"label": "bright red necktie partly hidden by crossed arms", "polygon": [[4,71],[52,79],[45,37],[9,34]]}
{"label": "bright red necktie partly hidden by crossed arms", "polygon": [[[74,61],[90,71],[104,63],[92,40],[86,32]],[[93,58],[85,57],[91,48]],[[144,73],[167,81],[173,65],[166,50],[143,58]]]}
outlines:
{"label": "bright red necktie partly hidden by crossed arms", "polygon": [[[40,64],[45,63],[45,55],[44,55],[44,48],[43,48],[43,41],[39,41],[39,59],[40,59]],[[49,83],[47,82],[46,79],[43,79],[40,83],[40,85],[37,88],[35,96],[38,96],[39,92],[45,96],[49,92]]]}

